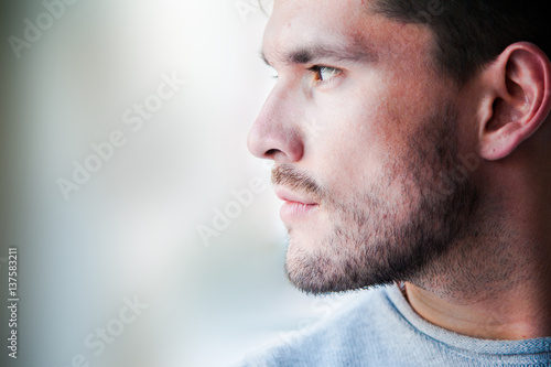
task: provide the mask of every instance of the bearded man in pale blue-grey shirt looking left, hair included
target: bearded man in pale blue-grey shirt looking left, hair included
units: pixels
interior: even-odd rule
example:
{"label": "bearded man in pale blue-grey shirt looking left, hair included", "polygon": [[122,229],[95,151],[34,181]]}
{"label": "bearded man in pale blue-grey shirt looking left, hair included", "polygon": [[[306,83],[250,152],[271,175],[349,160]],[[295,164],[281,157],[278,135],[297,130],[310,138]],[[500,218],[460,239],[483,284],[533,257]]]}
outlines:
{"label": "bearded man in pale blue-grey shirt looking left, hair included", "polygon": [[285,271],[365,294],[244,366],[551,366],[550,23],[543,1],[274,1],[248,147]]}

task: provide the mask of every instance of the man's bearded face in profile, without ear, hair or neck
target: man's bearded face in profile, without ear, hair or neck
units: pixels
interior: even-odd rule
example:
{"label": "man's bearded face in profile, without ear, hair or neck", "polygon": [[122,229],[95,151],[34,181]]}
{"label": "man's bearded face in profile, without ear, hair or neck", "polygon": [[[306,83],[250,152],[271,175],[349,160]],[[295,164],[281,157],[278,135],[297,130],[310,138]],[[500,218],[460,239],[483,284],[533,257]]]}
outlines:
{"label": "man's bearded face in profile, without ear, hair or neck", "polygon": [[458,91],[433,35],[361,0],[276,0],[263,55],[278,83],[249,134],[276,162],[287,272],[318,293],[407,280],[461,236],[476,198],[450,182]]}

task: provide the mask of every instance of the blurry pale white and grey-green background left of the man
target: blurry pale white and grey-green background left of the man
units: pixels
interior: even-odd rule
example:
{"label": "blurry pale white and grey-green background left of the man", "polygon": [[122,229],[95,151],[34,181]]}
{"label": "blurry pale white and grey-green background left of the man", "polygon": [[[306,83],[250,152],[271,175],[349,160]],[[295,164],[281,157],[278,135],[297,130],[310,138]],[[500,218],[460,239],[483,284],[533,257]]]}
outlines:
{"label": "blurry pale white and grey-green background left of the man", "polygon": [[0,7],[1,366],[229,366],[338,307],[288,284],[246,148],[274,83],[256,0]]}

